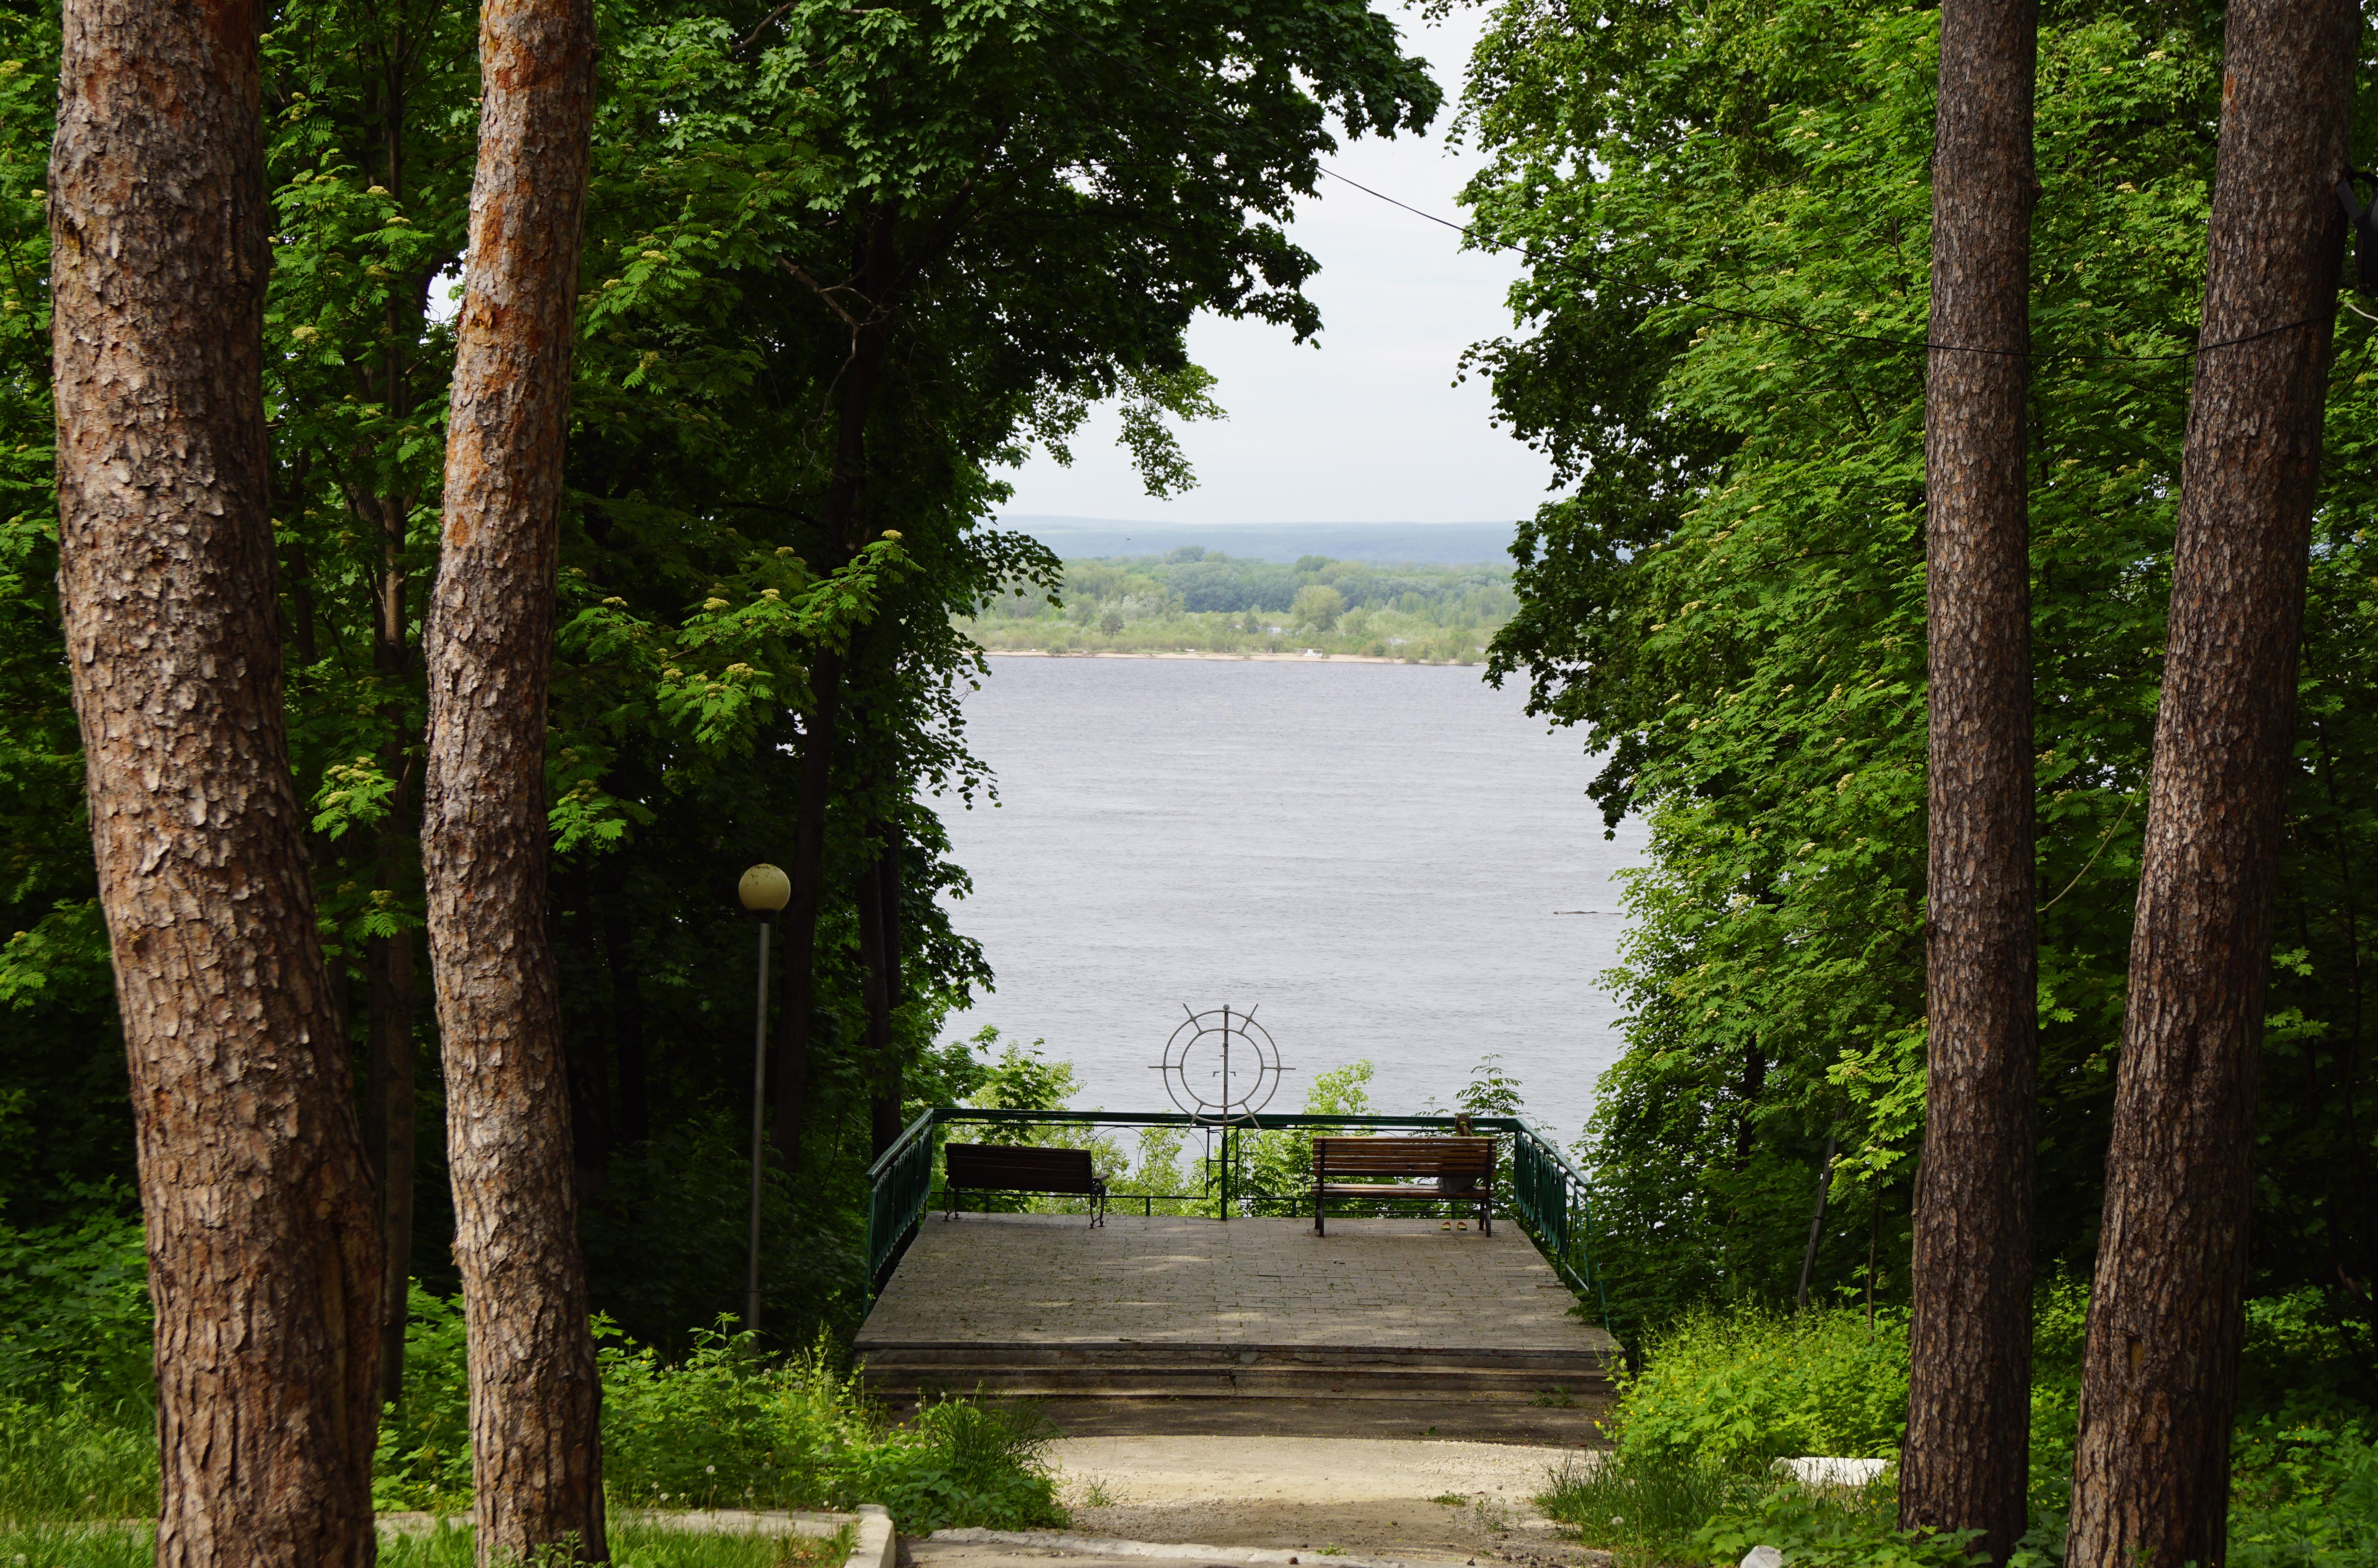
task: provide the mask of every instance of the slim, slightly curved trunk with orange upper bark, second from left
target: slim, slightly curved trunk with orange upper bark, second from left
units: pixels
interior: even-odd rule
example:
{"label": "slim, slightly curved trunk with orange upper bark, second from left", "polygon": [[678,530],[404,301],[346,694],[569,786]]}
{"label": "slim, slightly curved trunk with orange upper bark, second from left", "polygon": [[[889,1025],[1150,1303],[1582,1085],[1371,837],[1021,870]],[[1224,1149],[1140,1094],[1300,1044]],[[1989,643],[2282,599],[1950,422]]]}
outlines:
{"label": "slim, slightly curved trunk with orange upper bark, second from left", "polygon": [[478,173],[430,596],[421,858],[471,1335],[478,1561],[604,1558],[599,1383],[545,900],[545,706],[594,93],[587,0],[480,12]]}

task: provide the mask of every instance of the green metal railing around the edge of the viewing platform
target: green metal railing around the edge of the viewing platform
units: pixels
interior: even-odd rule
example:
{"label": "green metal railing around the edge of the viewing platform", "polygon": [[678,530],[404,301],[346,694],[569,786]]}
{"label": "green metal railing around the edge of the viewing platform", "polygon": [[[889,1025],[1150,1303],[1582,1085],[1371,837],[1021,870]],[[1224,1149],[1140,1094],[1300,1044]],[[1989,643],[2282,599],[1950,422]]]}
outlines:
{"label": "green metal railing around the edge of the viewing platform", "polygon": [[[1199,1128],[1220,1124],[1196,1121],[1182,1112],[1046,1112],[1046,1109],[963,1109],[935,1105],[908,1124],[882,1159],[868,1166],[868,1281],[866,1295],[875,1292],[892,1276],[901,1252],[916,1235],[918,1221],[932,1200],[932,1164],[942,1147],[942,1133],[951,1126],[1182,1126]],[[1505,1138],[1510,1145],[1510,1178],[1503,1183],[1508,1214],[1520,1221],[1527,1238],[1536,1243],[1543,1259],[1553,1264],[1562,1283],[1579,1297],[1593,1297],[1603,1328],[1610,1326],[1610,1302],[1603,1295],[1603,1271],[1593,1257],[1593,1195],[1584,1174],[1560,1152],[1536,1124],[1522,1117],[1470,1117],[1477,1133]],[[1239,1117],[1225,1131],[1225,1157],[1220,1162],[1220,1190],[1208,1183],[1203,1195],[1177,1195],[1196,1202],[1215,1202],[1215,1219],[1229,1219],[1232,1209],[1246,1205],[1298,1205],[1308,1193],[1232,1193],[1232,1159],[1227,1138],[1237,1131],[1372,1131],[1372,1133],[1453,1133],[1453,1117],[1320,1117],[1320,1114],[1260,1114]],[[1139,1193],[1132,1193],[1139,1197]]]}

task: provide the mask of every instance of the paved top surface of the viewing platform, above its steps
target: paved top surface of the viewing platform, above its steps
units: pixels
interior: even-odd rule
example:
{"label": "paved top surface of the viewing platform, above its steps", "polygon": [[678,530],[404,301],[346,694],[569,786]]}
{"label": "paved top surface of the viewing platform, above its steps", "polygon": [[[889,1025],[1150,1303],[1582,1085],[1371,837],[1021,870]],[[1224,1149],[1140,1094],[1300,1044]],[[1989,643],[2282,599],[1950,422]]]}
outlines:
{"label": "paved top surface of the viewing platform, above its steps", "polygon": [[1267,1345],[1600,1352],[1512,1224],[927,1214],[877,1297],[873,1345]]}

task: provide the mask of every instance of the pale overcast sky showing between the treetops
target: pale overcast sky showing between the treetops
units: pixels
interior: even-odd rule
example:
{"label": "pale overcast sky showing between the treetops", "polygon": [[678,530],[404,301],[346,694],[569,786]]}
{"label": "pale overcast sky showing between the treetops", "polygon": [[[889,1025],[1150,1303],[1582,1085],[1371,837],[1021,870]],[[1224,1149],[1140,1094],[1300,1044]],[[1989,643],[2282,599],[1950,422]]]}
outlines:
{"label": "pale overcast sky showing between the treetops", "polygon": [[[1455,7],[1441,24],[1394,12],[1405,50],[1429,59],[1446,109],[1427,135],[1344,143],[1325,159],[1422,211],[1462,221],[1455,192],[1479,157],[1453,147],[1453,100],[1484,24]],[[1215,373],[1227,421],[1189,425],[1199,487],[1149,497],[1113,444],[1113,418],[1075,442],[1072,468],[1034,456],[1008,478],[1011,516],[1175,523],[1486,523],[1517,520],[1546,497],[1548,463],[1486,425],[1481,380],[1455,387],[1462,349],[1510,330],[1503,292],[1517,266],[1465,252],[1460,235],[1325,178],[1289,230],[1322,264],[1320,347],[1253,321],[1199,318],[1191,356]]]}

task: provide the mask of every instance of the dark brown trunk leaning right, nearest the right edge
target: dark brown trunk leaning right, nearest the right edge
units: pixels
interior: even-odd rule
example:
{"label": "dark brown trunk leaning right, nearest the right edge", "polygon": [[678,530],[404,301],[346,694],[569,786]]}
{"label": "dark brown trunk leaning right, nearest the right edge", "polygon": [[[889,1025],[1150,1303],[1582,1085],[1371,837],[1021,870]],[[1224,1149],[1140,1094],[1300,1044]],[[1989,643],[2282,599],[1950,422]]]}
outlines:
{"label": "dark brown trunk leaning right, nearest the right edge", "polygon": [[2254,1060],[2359,21],[2349,0],[2228,10],[2204,347],[2081,1376],[2074,1568],[2228,1558]]}

